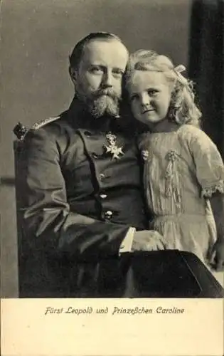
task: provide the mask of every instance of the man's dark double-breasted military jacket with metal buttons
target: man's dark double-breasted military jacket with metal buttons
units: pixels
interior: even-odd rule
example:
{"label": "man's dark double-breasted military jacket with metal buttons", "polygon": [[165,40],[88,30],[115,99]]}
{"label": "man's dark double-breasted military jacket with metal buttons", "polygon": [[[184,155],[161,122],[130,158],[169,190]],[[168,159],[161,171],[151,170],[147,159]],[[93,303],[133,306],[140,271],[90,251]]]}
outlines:
{"label": "man's dark double-breasted military jacket with metal buttons", "polygon": [[[109,131],[119,159],[105,150]],[[145,227],[134,133],[121,118],[95,119],[75,98],[56,120],[28,131],[19,165],[21,295],[95,290],[97,263],[117,258],[130,226]]]}

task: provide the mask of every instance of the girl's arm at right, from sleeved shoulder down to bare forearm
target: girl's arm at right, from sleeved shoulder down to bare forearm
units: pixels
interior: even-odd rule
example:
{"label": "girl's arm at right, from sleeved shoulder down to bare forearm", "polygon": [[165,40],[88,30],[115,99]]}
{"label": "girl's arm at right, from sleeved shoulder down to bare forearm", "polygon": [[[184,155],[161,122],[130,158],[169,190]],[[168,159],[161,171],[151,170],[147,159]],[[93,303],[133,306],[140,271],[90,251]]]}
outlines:
{"label": "girl's arm at right, from sleeved shoulder down to bare forearm", "polygon": [[224,270],[224,164],[223,158],[210,137],[197,127],[186,125],[188,147],[196,167],[196,177],[201,185],[201,196],[210,199],[215,218],[218,240],[213,247],[210,262]]}

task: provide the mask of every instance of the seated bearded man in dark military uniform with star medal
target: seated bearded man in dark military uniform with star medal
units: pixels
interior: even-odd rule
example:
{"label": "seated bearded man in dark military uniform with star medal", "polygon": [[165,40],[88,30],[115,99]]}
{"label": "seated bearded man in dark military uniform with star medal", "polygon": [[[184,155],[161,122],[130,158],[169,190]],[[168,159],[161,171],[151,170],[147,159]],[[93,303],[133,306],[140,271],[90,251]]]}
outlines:
{"label": "seated bearded man in dark military uniform with star medal", "polygon": [[119,116],[128,56],[111,33],[83,38],[70,108],[24,137],[21,296],[97,296],[104,261],[163,249],[146,230],[134,132]]}

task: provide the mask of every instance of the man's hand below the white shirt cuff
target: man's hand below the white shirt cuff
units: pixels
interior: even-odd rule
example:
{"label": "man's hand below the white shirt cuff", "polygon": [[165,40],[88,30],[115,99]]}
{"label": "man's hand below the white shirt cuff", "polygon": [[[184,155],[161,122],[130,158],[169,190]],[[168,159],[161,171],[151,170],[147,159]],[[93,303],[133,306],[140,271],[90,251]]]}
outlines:
{"label": "man's hand below the white shirt cuff", "polygon": [[166,241],[154,230],[136,231],[132,242],[132,251],[157,251],[166,248]]}

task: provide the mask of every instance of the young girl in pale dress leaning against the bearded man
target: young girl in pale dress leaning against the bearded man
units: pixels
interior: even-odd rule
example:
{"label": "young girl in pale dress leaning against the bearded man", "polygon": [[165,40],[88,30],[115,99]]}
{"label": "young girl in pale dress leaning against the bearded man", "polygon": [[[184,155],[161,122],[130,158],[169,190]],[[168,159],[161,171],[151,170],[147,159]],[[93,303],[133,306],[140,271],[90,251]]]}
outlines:
{"label": "young girl in pale dress leaning against the bearded man", "polygon": [[148,127],[139,137],[139,148],[146,201],[154,216],[149,227],[164,236],[167,249],[191,251],[220,270],[223,160],[199,128],[201,112],[191,82],[181,74],[184,69],[174,68],[166,56],[144,50],[132,54],[127,68],[132,113]]}

